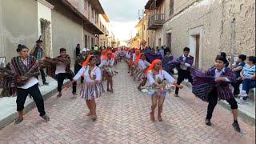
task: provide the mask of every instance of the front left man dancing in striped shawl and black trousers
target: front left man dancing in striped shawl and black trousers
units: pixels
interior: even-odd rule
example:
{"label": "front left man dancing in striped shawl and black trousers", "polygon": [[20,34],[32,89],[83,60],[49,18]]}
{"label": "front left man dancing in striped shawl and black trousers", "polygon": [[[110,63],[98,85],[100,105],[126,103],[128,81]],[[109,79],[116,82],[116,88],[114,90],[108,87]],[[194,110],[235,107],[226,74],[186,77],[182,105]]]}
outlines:
{"label": "front left man dancing in striped shawl and black trousers", "polygon": [[49,121],[50,118],[45,112],[42,94],[38,88],[39,64],[37,59],[29,55],[29,49],[24,45],[19,45],[17,52],[19,56],[12,58],[7,67],[0,70],[0,88],[10,92],[8,94],[17,94],[18,118],[15,119],[14,124],[23,121],[24,104],[28,94],[34,99],[40,117]]}

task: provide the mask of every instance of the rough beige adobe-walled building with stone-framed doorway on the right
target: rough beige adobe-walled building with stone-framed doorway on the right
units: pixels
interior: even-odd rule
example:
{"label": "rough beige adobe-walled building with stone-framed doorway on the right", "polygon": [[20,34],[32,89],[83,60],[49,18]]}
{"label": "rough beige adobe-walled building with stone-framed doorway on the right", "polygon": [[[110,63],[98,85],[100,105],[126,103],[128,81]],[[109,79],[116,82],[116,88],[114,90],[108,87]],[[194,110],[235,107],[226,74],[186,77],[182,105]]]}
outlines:
{"label": "rough beige adobe-walled building with stone-framed doorway on the right", "polygon": [[221,51],[230,63],[238,54],[255,55],[254,0],[149,0],[146,9],[150,2],[153,15],[164,14],[156,44],[169,46],[174,57],[188,46],[194,66],[206,70]]}

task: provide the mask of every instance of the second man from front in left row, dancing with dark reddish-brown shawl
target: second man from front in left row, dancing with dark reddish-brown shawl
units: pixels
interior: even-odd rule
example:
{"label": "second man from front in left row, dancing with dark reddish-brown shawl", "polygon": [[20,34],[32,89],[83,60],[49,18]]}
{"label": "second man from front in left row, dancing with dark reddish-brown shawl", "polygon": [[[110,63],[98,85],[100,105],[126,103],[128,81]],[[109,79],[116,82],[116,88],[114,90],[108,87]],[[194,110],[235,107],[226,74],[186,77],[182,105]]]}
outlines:
{"label": "second man from front in left row, dancing with dark reddish-brown shawl", "polygon": [[[50,65],[47,67],[47,73],[50,75],[50,77],[57,79],[58,81],[58,95],[57,98],[62,97],[62,85],[64,82],[64,79],[68,78],[70,81],[72,81],[72,78],[74,77],[74,73],[72,70],[70,70],[70,56],[66,54],[66,49],[61,48],[59,50],[60,55],[56,58],[46,58],[44,60],[44,63],[46,65]],[[76,95],[76,83],[73,83],[73,90],[72,94]]]}

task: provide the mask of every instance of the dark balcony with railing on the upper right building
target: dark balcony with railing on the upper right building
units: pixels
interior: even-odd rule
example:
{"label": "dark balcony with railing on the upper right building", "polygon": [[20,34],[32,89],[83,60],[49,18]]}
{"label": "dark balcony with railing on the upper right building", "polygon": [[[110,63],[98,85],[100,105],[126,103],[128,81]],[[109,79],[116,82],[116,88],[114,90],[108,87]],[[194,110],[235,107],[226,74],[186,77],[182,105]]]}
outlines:
{"label": "dark balcony with railing on the upper right building", "polygon": [[149,16],[148,30],[156,30],[165,22],[165,14],[152,14]]}

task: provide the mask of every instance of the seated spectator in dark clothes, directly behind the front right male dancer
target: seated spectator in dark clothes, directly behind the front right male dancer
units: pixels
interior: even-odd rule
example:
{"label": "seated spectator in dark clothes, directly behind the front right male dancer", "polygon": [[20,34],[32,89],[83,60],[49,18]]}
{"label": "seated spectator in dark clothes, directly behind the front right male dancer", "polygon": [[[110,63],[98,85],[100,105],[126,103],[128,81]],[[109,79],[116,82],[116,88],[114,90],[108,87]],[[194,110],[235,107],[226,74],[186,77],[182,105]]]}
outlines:
{"label": "seated spectator in dark clothes, directly behind the front right male dancer", "polygon": [[242,67],[246,65],[245,61],[246,61],[246,55],[240,54],[240,55],[238,55],[238,60],[235,63],[235,66],[233,67],[233,71],[237,78],[237,82],[232,83],[232,86],[234,87],[234,96],[235,97],[238,97],[238,94],[240,93],[239,85],[242,83],[240,73],[242,71]]}

